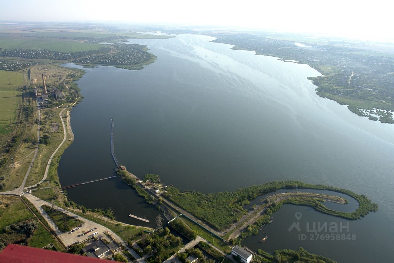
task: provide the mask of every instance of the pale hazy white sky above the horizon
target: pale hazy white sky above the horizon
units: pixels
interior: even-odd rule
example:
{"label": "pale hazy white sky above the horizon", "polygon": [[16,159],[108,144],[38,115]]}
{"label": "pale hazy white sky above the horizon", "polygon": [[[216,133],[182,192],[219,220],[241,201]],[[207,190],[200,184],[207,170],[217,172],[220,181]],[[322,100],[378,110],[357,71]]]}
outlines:
{"label": "pale hazy white sky above the horizon", "polygon": [[0,20],[171,23],[394,40],[392,1],[9,0]]}

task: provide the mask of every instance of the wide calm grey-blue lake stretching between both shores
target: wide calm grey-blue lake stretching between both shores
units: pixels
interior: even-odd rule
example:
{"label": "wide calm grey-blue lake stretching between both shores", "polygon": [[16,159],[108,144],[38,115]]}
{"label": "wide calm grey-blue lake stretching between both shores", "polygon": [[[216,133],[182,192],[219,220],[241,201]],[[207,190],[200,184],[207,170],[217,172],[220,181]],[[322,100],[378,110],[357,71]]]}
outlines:
{"label": "wide calm grey-blue lake stretching between both shores", "polygon": [[[260,233],[243,242],[249,248],[302,246],[340,262],[392,262],[394,125],[318,97],[307,77],[320,73],[307,65],[232,50],[212,39],[132,39],[127,43],[148,45],[156,62],[138,71],[85,69],[78,81],[84,100],[71,114],[75,140],[59,165],[61,184],[113,175],[113,118],[115,154],[138,177],[156,173],[166,184],[204,193],[295,179],[347,188],[379,204],[378,212],[350,222],[285,205],[263,227],[268,240],[259,242]],[[118,178],[68,193],[89,208],[112,207],[129,224],[143,222],[128,214],[149,220],[158,214]],[[294,222],[300,232],[288,231]],[[325,222],[349,223],[348,232],[338,234],[355,238],[299,240],[298,234],[310,234],[307,223]]]}

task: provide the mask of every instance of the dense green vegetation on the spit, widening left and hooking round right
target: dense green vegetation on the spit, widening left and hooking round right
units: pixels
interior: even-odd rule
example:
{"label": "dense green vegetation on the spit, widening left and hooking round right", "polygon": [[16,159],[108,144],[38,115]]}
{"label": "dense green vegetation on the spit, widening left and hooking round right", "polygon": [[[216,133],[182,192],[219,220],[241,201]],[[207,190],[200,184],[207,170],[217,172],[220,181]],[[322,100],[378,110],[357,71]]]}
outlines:
{"label": "dense green vegetation on the spit, widening left and hooking round right", "polygon": [[349,190],[340,189],[333,186],[308,184],[294,180],[274,181],[240,188],[234,192],[208,194],[196,191],[184,191],[180,193],[179,189],[170,187],[168,188],[168,192],[164,193],[164,196],[186,211],[212,225],[212,227],[218,230],[224,230],[234,222],[240,220],[240,218],[247,213],[247,211],[243,209],[243,205],[249,203],[249,201],[255,199],[257,196],[274,192],[279,189],[296,188],[331,190],[353,197],[359,202],[359,208],[352,213],[334,211],[327,209],[321,203],[313,203],[313,207],[320,212],[339,216],[349,220],[360,219],[361,217],[366,216],[369,212],[375,212],[378,209],[378,205],[372,203],[365,195],[358,195]]}

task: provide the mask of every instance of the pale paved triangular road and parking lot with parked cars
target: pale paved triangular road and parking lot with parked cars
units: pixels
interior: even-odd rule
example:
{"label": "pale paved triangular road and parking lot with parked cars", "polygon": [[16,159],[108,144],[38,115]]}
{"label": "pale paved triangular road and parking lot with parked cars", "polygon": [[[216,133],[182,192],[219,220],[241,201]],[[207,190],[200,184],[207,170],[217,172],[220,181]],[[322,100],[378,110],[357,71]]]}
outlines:
{"label": "pale paved triangular road and parking lot with parked cars", "polygon": [[[74,214],[68,210],[61,208],[61,207],[53,205],[54,209],[56,209],[60,212],[63,212],[65,214],[68,214],[69,216],[72,216],[74,218],[78,218],[79,220],[84,222],[84,224],[82,224],[82,227],[80,229],[78,229],[77,231],[75,231],[73,233],[69,233],[69,232],[63,233],[63,232],[59,231],[59,229],[57,229],[57,227],[54,227],[54,223],[52,222],[52,220],[50,220],[50,218],[47,216],[47,214],[44,213],[45,211],[43,209],[41,209],[41,206],[43,206],[43,205],[47,205],[49,207],[52,207],[51,203],[48,203],[42,199],[39,199],[38,197],[35,197],[34,195],[32,195],[30,193],[25,194],[24,196],[35,206],[35,208],[37,208],[37,210],[40,212],[40,214],[43,216],[43,218],[46,220],[46,222],[48,222],[48,225],[56,232],[59,239],[61,240],[61,242],[63,242],[63,244],[65,246],[70,246],[77,241],[83,242],[84,240],[92,237],[92,234],[95,231],[97,231],[97,232],[99,232],[99,234],[103,234],[103,235],[104,235],[104,233],[108,233],[118,243],[123,242],[123,240],[118,235],[113,233],[112,230],[108,229],[107,227],[104,227],[103,225],[97,224],[93,221],[87,220],[86,218],[83,218],[82,216]],[[97,229],[94,229],[95,227],[97,227]],[[90,229],[94,229],[93,231],[90,232],[91,234],[89,233],[87,235],[77,237],[77,235],[80,235]]]}

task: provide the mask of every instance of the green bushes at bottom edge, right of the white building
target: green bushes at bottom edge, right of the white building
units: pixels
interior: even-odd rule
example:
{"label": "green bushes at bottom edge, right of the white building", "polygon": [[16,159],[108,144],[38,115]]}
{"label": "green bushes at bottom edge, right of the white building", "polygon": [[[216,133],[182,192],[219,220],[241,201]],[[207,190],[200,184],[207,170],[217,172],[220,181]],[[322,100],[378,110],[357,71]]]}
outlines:
{"label": "green bushes at bottom edge, right of the white building", "polygon": [[254,260],[257,262],[277,262],[277,263],[292,263],[292,262],[304,262],[304,263],[335,263],[332,259],[328,257],[323,257],[321,255],[310,254],[303,248],[298,250],[276,250],[275,255],[271,255],[261,249],[257,250],[254,255]]}

